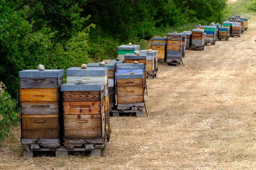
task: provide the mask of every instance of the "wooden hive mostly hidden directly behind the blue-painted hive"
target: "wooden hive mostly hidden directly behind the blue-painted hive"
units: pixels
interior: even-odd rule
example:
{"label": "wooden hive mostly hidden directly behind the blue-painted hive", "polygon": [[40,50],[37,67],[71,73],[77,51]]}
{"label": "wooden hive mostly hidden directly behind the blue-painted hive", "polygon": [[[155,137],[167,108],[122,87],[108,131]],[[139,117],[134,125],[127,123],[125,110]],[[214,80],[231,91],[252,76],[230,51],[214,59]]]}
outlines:
{"label": "wooden hive mostly hidden directly behind the blue-painted hive", "polygon": [[137,56],[136,54],[125,54],[125,63],[134,63],[134,61],[137,61],[139,63],[143,63],[144,69],[143,69],[143,84],[147,84],[147,54],[140,54],[140,56]]}

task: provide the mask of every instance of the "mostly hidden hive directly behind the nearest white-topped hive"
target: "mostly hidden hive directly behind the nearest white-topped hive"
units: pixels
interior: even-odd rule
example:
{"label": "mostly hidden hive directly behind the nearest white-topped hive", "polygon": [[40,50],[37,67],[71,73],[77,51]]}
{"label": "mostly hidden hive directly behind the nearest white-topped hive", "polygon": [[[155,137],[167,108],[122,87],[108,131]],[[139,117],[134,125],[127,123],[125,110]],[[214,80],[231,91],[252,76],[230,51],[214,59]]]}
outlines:
{"label": "mostly hidden hive directly behind the nearest white-topped hive", "polygon": [[109,103],[110,106],[113,108],[115,104],[115,89],[114,89],[114,77],[115,77],[115,66],[116,63],[109,63],[105,65],[99,65],[99,63],[88,63],[87,64],[87,69],[90,67],[98,67],[98,68],[108,68],[108,93],[109,93]]}

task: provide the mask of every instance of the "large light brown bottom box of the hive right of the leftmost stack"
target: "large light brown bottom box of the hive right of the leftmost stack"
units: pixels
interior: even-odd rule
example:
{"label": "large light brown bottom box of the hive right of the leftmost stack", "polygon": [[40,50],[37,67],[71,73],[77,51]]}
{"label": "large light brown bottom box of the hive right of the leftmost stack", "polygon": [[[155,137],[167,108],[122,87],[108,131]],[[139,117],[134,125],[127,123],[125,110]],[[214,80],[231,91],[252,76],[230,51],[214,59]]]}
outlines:
{"label": "large light brown bottom box of the hive right of the leftmost stack", "polygon": [[64,115],[64,139],[102,138],[102,115]]}

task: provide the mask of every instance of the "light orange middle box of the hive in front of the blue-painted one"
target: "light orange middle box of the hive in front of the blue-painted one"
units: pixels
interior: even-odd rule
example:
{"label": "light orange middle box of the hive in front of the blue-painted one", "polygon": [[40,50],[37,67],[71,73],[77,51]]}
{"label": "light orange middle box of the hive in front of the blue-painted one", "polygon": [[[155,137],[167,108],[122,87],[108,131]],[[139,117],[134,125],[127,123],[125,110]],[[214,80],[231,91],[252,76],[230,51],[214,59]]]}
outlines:
{"label": "light orange middle box of the hive in front of the blue-painted one", "polygon": [[117,97],[120,96],[141,96],[143,95],[143,86],[118,87]]}

